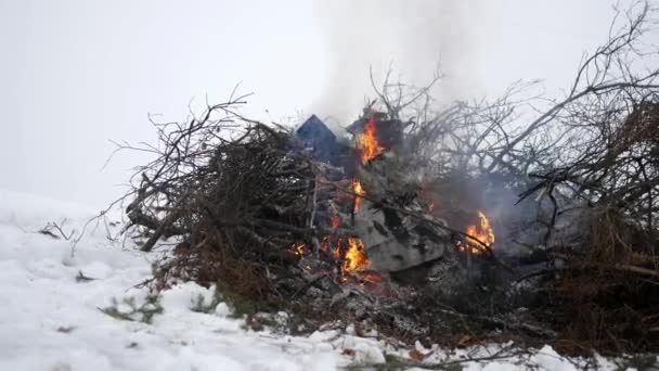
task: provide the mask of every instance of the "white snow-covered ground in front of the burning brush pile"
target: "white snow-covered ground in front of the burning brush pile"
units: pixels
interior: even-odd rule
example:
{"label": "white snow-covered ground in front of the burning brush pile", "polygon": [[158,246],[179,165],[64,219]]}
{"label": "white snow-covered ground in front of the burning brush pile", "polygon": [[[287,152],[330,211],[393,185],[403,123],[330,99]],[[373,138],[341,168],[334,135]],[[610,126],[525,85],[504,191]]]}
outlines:
{"label": "white snow-covered ground in front of the burning brush pile", "polygon": [[[120,320],[101,309],[134,298],[145,290],[133,286],[150,277],[155,254],[141,254],[130,244],[113,244],[107,232],[119,226],[90,225],[72,257],[72,244],[38,231],[47,222],[65,233],[81,230],[95,214],[81,206],[0,190],[0,370],[335,370],[353,364],[386,362],[385,355],[409,357],[377,337],[361,338],[336,331],[286,336],[245,329],[220,303],[209,312],[192,310],[199,295],[212,292],[193,283],[165,292],[163,312],[153,321]],[[57,232],[55,231],[55,234]],[[88,279],[77,279],[82,274]],[[501,346],[478,349],[413,350],[425,362],[461,357],[487,357]],[[599,367],[615,369],[610,361]],[[466,370],[576,369],[573,361],[546,346],[525,358],[466,362]]]}

